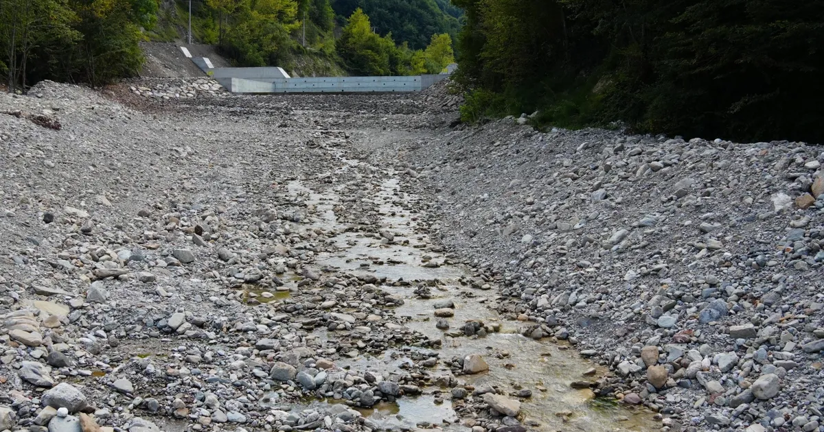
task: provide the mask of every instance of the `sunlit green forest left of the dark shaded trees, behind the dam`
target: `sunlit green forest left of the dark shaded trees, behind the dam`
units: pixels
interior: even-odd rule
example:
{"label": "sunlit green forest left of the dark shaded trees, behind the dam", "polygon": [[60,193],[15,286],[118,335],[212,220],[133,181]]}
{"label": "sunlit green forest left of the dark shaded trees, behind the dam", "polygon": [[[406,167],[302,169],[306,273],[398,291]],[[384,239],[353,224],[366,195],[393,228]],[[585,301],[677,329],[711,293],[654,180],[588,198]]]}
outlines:
{"label": "sunlit green forest left of the dark shaded trees, behind the dam", "polygon": [[[433,0],[194,0],[192,33],[237,66],[320,59],[335,74],[439,73],[454,62],[461,13],[438,1],[444,9]],[[360,3],[382,19],[370,19]],[[44,79],[100,86],[133,77],[143,63],[141,41],[186,39],[185,2],[163,4],[0,0],[0,76],[9,91]]]}

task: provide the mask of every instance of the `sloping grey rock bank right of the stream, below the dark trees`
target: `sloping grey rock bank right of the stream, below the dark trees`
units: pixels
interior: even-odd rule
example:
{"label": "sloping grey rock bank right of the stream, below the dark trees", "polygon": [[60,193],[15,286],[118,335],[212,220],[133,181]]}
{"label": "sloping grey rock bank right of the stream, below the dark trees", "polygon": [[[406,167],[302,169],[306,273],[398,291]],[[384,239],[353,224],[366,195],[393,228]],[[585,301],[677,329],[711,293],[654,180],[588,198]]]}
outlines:
{"label": "sloping grey rock bank right of the stream, below the dark trees", "polygon": [[513,123],[399,168],[525,335],[573,342],[616,374],[598,394],[667,429],[824,430],[824,147]]}

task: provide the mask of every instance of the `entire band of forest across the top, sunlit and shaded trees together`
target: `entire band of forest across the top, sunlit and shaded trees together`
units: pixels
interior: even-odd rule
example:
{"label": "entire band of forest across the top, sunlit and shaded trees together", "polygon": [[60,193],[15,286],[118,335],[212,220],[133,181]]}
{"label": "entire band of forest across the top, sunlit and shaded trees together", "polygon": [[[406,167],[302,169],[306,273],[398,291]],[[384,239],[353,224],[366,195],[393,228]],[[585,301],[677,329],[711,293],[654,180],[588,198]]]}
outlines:
{"label": "entire band of forest across the top, sunlit and shaded trees together", "polygon": [[[186,3],[158,1],[0,0],[0,76],[12,91],[133,76],[141,40],[185,39]],[[824,138],[820,1],[194,0],[192,15],[238,66],[410,75],[456,55],[470,123]]]}

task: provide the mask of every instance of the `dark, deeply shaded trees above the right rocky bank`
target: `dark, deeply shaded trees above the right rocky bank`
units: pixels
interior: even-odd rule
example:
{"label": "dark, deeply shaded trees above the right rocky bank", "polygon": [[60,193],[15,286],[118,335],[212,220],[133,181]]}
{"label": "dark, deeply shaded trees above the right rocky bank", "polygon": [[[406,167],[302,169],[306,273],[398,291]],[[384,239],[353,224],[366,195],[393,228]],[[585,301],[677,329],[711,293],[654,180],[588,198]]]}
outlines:
{"label": "dark, deeply shaded trees above the right rocky bank", "polygon": [[[454,0],[478,110],[567,126],[822,140],[824,2]],[[482,113],[481,113],[482,114]]]}

